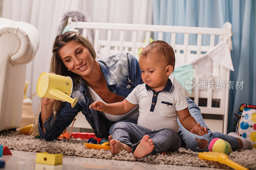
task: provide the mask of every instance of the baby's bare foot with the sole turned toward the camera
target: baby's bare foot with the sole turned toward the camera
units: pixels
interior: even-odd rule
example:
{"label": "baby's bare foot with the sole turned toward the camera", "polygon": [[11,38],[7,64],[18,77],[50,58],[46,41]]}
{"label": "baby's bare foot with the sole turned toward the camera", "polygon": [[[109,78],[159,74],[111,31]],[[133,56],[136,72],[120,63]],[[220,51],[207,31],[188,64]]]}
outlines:
{"label": "baby's bare foot with the sole turned toward the camera", "polygon": [[145,135],[141,139],[140,144],[135,149],[134,156],[136,158],[143,158],[144,156],[151,153],[153,151],[154,147],[155,147],[155,145],[153,143],[153,140],[149,139],[148,135]]}

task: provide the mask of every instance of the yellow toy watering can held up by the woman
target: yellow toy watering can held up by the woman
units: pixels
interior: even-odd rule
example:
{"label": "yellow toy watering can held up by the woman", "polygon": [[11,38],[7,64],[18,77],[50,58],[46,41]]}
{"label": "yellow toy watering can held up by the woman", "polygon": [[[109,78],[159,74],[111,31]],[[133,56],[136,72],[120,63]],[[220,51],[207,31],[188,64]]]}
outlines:
{"label": "yellow toy watering can held up by the woman", "polygon": [[36,93],[39,97],[48,99],[67,101],[74,107],[77,98],[70,97],[73,89],[72,79],[68,76],[60,76],[43,72],[38,78],[36,85]]}

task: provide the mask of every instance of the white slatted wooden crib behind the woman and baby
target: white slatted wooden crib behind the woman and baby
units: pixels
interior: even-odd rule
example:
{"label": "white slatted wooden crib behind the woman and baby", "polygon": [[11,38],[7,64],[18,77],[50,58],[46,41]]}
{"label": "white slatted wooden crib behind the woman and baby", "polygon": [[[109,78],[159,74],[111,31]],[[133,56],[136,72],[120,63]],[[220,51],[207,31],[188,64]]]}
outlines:
{"label": "white slatted wooden crib behind the woman and baby", "polygon": [[[232,26],[230,23],[225,23],[223,28],[203,28],[203,27],[187,27],[187,26],[162,26],[162,25],[138,25],[138,24],[113,24],[113,23],[93,23],[93,22],[72,22],[68,21],[68,25],[72,30],[78,28],[83,29],[83,35],[86,37],[87,29],[95,31],[94,48],[103,57],[110,55],[129,52],[138,59],[139,48],[144,48],[148,45],[150,37],[153,33],[158,33],[158,40],[163,40],[163,34],[171,34],[170,44],[175,50],[176,64],[175,67],[184,65],[198,58],[211,48],[216,43],[215,39],[227,39],[232,35]],[[176,44],[176,35],[184,34],[184,43]],[[189,35],[196,35],[196,45],[189,45]],[[202,45],[202,36],[210,36],[209,45]],[[141,39],[141,40],[139,40]],[[143,42],[145,40],[145,42]],[[156,40],[156,39],[154,39]],[[232,49],[231,38],[228,39],[228,45]],[[174,85],[179,86],[184,94],[192,98],[199,105],[204,120],[212,131],[227,133],[228,122],[228,89],[205,89],[196,88],[197,82],[203,80],[195,70],[193,73],[193,82],[195,88],[189,94],[184,87],[176,81],[173,76],[170,76]],[[229,81],[229,70],[218,63],[213,62],[213,81]],[[206,101],[207,100],[207,101]],[[202,101],[202,102],[200,102]],[[217,103],[217,104],[216,104]],[[213,105],[216,104],[216,105]],[[201,104],[202,105],[202,104]],[[208,116],[207,116],[208,115]],[[207,118],[208,117],[208,118]],[[78,114],[74,127],[91,128],[83,114]],[[86,123],[85,123],[86,122]]]}

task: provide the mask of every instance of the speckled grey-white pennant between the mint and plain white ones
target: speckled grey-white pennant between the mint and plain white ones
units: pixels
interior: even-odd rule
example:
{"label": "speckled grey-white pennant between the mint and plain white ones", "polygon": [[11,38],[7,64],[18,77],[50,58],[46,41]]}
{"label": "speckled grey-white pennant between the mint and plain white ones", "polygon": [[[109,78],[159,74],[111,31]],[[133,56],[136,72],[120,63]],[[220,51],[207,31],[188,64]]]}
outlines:
{"label": "speckled grey-white pennant between the mint and plain white ones", "polygon": [[212,80],[212,59],[204,54],[190,63],[196,72],[202,75],[206,80]]}

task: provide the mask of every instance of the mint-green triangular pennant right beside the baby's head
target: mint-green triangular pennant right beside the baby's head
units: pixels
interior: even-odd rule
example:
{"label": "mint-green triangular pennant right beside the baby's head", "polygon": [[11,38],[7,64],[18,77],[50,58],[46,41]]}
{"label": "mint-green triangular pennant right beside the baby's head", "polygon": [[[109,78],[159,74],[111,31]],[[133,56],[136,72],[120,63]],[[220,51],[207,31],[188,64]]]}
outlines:
{"label": "mint-green triangular pennant right beside the baby's head", "polygon": [[[193,80],[193,67],[190,64],[186,64],[180,67],[176,67],[172,73],[174,78],[186,89],[185,82]],[[187,89],[186,89],[187,90]],[[187,90],[191,94],[192,89]]]}

